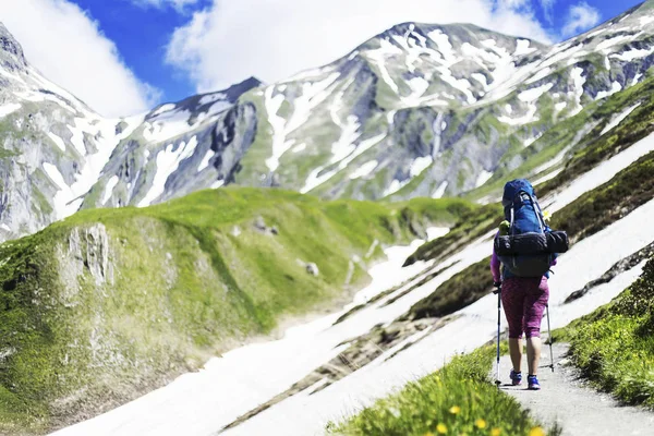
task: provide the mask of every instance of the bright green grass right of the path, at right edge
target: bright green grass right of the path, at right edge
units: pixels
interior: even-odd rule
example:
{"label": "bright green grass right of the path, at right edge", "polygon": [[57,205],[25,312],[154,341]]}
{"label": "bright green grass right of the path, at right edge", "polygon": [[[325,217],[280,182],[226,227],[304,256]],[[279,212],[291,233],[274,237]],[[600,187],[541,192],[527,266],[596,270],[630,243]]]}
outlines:
{"label": "bright green grass right of the path, at right edge", "polygon": [[572,362],[598,388],[654,409],[654,259],[630,289],[557,339],[570,342]]}

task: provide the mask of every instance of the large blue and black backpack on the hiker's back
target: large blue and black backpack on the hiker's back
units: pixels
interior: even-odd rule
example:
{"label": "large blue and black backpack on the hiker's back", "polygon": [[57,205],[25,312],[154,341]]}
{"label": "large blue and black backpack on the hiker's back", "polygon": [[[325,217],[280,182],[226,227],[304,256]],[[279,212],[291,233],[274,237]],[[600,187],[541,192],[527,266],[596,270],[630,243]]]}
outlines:
{"label": "large blue and black backpack on the hiker's back", "polygon": [[[545,223],[543,211],[538,205],[536,193],[528,180],[518,179],[505,185],[501,204],[505,218],[510,222],[509,235],[514,238],[528,234],[530,238],[541,235],[542,239],[552,232]],[[536,238],[538,239],[538,238]],[[505,267],[505,278],[547,276],[554,253],[499,255]]]}

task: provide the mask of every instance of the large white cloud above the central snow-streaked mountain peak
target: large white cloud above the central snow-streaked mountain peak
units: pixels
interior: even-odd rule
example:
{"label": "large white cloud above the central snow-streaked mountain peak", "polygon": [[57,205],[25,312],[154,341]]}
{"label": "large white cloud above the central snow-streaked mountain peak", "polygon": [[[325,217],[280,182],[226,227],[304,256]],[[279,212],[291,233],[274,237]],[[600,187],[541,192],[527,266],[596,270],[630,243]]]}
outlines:
{"label": "large white cloud above the central snow-streaked mountain peak", "polygon": [[528,0],[214,0],[178,28],[167,60],[198,92],[272,82],[331,62],[401,22],[473,23],[549,41]]}

